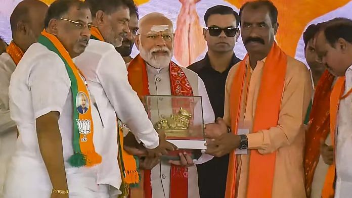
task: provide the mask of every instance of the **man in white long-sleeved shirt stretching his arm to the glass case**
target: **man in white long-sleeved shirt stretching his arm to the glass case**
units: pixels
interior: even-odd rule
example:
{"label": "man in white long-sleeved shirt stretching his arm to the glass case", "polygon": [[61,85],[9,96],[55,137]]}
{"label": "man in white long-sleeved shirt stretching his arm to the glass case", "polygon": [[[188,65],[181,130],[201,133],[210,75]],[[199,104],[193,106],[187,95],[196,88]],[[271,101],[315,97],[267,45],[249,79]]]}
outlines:
{"label": "man in white long-sleeved shirt stretching his arm to the glass case", "polygon": [[115,50],[115,47],[121,46],[124,35],[129,33],[129,8],[136,7],[134,2],[85,2],[90,5],[95,27],[91,29],[88,47],[74,62],[83,72],[96,98],[104,126],[104,134],[99,136],[104,144],[97,145],[97,150],[103,155],[97,182],[102,194],[108,193],[111,197],[120,193],[126,195],[128,184],[138,183],[139,178],[134,157],[128,155],[121,145],[121,121],[147,148],[145,153],[153,157],[167,153],[174,147],[165,141],[165,137],[159,138],[154,130],[143,104],[128,83],[125,63]]}

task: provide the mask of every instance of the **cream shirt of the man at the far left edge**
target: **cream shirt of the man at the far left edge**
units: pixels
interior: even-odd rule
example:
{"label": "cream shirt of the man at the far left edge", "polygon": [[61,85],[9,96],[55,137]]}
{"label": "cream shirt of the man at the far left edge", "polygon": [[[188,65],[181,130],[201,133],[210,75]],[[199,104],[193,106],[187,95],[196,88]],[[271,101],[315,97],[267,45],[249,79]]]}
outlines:
{"label": "cream shirt of the man at the far left edge", "polygon": [[7,166],[16,150],[17,128],[10,117],[9,85],[16,64],[9,54],[0,56],[0,197],[3,194]]}

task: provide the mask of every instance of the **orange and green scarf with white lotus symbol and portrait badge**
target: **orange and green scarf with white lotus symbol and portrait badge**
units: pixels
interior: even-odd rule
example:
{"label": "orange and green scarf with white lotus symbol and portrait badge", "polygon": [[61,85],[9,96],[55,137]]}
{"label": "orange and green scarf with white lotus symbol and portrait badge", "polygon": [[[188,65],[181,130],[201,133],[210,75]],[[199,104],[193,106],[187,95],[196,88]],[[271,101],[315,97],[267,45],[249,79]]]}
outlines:
{"label": "orange and green scarf with white lotus symbol and portrait badge", "polygon": [[73,101],[73,155],[68,159],[68,162],[74,167],[90,167],[100,164],[102,157],[96,153],[93,141],[94,125],[92,108],[88,108],[85,113],[80,113],[78,111],[79,105],[76,105],[77,98],[82,96],[86,98],[87,104],[90,104],[90,93],[84,80],[84,76],[73,63],[72,58],[66,51],[65,47],[55,35],[48,33],[44,29],[41,32],[41,36],[38,38],[38,42],[61,58],[71,81],[70,89],[72,91]]}

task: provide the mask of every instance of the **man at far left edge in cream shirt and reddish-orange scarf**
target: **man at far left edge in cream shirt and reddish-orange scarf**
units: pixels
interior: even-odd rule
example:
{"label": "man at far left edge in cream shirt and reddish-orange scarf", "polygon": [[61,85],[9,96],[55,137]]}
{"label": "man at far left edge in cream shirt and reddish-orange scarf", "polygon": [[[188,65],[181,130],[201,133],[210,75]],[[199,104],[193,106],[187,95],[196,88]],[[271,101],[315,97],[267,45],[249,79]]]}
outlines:
{"label": "man at far left edge in cream shirt and reddish-orange scarf", "polygon": [[38,0],[19,3],[10,17],[13,40],[0,56],[0,196],[17,139],[16,123],[11,119],[9,109],[10,78],[23,53],[37,41],[44,28],[47,10],[48,6]]}

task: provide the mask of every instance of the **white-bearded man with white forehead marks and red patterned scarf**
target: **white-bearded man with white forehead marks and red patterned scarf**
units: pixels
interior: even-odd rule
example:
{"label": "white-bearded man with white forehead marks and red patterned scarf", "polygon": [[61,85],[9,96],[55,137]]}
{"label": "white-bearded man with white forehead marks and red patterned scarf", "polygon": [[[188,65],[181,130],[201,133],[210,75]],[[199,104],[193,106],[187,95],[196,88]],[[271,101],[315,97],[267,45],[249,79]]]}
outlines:
{"label": "white-bearded man with white forehead marks and red patterned scarf", "polygon": [[[140,51],[128,65],[128,81],[137,94],[144,95],[200,95],[203,101],[204,123],[214,121],[208,94],[203,81],[193,71],[171,61],[173,55],[173,25],[161,13],[150,13],[138,24],[136,46]],[[134,189],[131,198],[197,198],[198,178],[195,164],[211,157],[203,155],[192,160],[187,153],[179,153],[180,161],[161,160],[151,171],[144,171],[144,188]],[[188,177],[189,175],[189,177]],[[144,190],[144,191],[143,191]]]}

